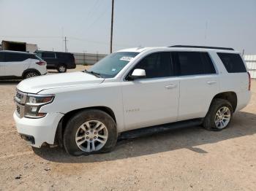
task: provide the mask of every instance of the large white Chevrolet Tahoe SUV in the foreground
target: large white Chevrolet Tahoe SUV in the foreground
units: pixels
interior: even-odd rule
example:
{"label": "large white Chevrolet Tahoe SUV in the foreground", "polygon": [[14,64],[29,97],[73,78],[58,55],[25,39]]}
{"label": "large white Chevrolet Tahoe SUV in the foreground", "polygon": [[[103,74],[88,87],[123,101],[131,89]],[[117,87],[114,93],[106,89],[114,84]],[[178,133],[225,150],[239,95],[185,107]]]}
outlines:
{"label": "large white Chevrolet Tahoe SUV in the foreground", "polygon": [[118,135],[138,128],[222,130],[249,99],[249,73],[233,49],[132,48],[88,71],[23,80],[13,116],[32,146],[59,143],[84,155],[108,152]]}

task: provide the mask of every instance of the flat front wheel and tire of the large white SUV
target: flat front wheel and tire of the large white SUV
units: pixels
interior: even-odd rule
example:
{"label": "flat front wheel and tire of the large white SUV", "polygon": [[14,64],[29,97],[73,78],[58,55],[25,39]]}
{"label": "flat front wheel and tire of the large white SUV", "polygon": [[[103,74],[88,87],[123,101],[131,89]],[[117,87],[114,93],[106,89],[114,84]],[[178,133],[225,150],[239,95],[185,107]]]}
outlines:
{"label": "flat front wheel and tire of the large white SUV", "polygon": [[[102,124],[97,127],[99,122]],[[109,114],[97,109],[86,109],[73,115],[63,136],[64,149],[73,156],[110,152],[116,141],[116,122]]]}

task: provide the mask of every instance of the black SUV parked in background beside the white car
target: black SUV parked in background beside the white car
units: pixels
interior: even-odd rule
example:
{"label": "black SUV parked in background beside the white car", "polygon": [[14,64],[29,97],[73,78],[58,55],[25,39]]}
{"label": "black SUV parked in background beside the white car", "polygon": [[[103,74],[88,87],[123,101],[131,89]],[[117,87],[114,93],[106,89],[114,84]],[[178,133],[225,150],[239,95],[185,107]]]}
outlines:
{"label": "black SUV parked in background beside the white car", "polygon": [[36,54],[47,62],[47,69],[57,69],[60,73],[75,69],[75,57],[69,52],[39,51]]}

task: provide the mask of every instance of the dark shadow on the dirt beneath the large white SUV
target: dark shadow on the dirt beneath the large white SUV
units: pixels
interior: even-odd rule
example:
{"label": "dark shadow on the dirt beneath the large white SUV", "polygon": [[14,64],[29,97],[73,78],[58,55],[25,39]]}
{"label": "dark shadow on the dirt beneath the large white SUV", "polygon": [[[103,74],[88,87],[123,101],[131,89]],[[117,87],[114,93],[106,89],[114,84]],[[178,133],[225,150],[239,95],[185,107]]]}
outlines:
{"label": "dark shadow on the dirt beneath the large white SUV", "polygon": [[222,131],[208,131],[200,126],[170,130],[152,136],[118,141],[113,152],[89,156],[72,157],[60,147],[34,149],[36,155],[58,163],[91,163],[118,160],[127,157],[152,155],[175,149],[189,149],[207,155],[207,151],[197,148],[202,144],[215,144],[219,141],[234,139],[256,133],[256,114],[238,112],[230,127]]}

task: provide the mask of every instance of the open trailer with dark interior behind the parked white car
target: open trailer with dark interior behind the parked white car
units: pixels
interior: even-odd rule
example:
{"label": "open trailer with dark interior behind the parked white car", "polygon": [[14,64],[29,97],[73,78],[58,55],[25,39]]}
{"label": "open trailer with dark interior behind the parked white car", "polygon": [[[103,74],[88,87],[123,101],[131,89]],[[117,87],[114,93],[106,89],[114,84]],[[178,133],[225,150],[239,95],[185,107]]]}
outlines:
{"label": "open trailer with dark interior behind the parked white car", "polygon": [[37,44],[29,44],[26,42],[13,42],[13,41],[4,41],[3,40],[1,42],[1,49],[33,53],[38,50],[38,47],[37,47]]}

